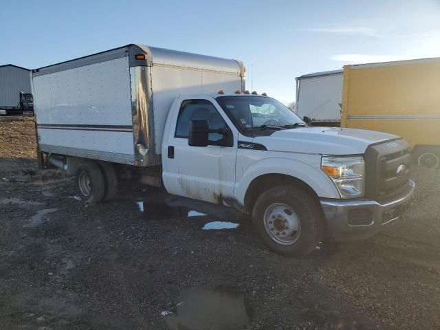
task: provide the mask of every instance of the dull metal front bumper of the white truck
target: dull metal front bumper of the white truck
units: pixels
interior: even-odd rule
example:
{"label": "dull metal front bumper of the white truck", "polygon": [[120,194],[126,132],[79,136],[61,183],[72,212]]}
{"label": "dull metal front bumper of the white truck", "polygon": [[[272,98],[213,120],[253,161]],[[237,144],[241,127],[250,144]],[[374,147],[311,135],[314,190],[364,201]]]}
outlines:
{"label": "dull metal front bumper of the white truck", "polygon": [[351,241],[384,230],[403,217],[412,202],[414,190],[414,181],[408,180],[401,195],[381,203],[368,199],[320,199],[329,236],[336,241]]}

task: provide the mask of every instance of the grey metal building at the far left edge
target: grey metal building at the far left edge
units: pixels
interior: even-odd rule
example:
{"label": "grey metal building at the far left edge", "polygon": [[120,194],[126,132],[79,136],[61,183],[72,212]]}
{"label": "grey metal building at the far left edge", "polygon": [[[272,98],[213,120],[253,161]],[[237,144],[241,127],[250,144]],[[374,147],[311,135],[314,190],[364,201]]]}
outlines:
{"label": "grey metal building at the far left edge", "polygon": [[31,93],[30,74],[24,67],[0,65],[0,109],[19,106],[21,91]]}

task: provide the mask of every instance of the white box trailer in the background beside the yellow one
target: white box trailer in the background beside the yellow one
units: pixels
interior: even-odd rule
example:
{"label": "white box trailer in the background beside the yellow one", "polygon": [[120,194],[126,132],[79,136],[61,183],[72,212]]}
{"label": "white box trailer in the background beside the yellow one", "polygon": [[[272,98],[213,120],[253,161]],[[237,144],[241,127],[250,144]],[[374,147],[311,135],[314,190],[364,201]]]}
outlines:
{"label": "white box trailer in the background beside the yellow one", "polygon": [[311,122],[340,122],[342,70],[296,78],[296,113]]}

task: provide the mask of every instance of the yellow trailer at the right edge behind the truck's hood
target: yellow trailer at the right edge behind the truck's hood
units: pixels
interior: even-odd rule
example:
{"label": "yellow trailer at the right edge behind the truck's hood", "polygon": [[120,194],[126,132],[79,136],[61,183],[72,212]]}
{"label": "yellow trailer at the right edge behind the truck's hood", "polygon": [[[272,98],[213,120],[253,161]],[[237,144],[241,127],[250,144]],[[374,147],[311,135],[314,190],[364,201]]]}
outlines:
{"label": "yellow trailer at the right edge behind the truck's hood", "polygon": [[440,58],[345,65],[341,126],[404,137],[416,163],[440,167]]}

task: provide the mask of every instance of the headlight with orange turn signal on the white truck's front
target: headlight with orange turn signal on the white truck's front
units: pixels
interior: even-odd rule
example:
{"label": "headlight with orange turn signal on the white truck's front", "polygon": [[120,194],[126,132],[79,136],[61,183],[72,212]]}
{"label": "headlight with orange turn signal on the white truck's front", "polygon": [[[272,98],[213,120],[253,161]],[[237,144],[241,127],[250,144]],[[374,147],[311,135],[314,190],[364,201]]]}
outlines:
{"label": "headlight with orange turn signal on the white truck's front", "polygon": [[365,163],[361,156],[322,156],[321,168],[333,180],[342,198],[364,195]]}

